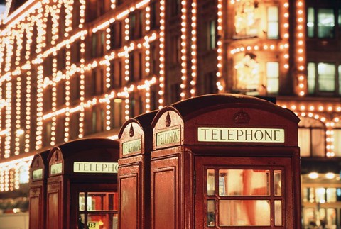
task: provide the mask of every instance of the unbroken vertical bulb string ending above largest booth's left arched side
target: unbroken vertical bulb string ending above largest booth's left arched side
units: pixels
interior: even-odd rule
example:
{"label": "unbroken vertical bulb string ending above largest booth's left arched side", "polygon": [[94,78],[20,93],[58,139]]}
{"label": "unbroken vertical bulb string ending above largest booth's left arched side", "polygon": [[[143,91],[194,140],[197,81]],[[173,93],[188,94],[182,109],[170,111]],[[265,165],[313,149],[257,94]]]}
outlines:
{"label": "unbroken vertical bulb string ending above largest booth's left arched side", "polygon": [[158,108],[161,109],[164,104],[165,97],[165,0],[160,1],[160,77],[158,78],[160,90],[158,94],[160,95],[160,99],[158,99]]}

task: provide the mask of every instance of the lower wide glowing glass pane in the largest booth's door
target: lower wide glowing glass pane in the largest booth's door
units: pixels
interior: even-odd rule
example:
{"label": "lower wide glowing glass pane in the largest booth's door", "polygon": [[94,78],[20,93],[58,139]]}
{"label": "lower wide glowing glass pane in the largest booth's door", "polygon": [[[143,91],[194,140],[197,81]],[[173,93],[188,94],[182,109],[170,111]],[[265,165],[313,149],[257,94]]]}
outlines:
{"label": "lower wide glowing glass pane in the largest booth's door", "polygon": [[269,226],[270,201],[220,200],[220,226]]}

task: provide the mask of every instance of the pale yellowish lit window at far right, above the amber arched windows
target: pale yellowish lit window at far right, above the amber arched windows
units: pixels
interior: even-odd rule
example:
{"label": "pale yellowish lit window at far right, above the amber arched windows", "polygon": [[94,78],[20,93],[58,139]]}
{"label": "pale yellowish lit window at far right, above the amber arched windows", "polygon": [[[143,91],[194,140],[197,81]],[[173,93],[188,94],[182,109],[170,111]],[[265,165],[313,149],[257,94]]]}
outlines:
{"label": "pale yellowish lit window at far right, above the amber arched windows", "polygon": [[308,63],[308,93],[320,94],[335,92],[336,67],[331,63]]}

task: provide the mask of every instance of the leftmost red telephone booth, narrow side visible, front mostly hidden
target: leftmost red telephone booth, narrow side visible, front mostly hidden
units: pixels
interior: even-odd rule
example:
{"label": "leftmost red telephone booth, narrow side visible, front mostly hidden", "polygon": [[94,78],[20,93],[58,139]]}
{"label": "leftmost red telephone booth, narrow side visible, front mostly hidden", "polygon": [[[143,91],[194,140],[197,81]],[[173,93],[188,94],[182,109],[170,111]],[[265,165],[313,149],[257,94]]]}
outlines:
{"label": "leftmost red telephone booth, narrow side visible, front mostly hidden", "polygon": [[34,155],[30,169],[29,228],[45,228],[49,150]]}

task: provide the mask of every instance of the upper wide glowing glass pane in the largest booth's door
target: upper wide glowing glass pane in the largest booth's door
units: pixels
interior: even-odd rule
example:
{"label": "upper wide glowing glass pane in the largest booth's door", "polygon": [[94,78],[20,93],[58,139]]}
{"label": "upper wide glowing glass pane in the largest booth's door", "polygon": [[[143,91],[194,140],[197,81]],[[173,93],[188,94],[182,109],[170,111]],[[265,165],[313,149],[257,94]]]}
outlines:
{"label": "upper wide glowing glass pane in the largest booth's door", "polygon": [[220,196],[269,196],[269,170],[220,169]]}

